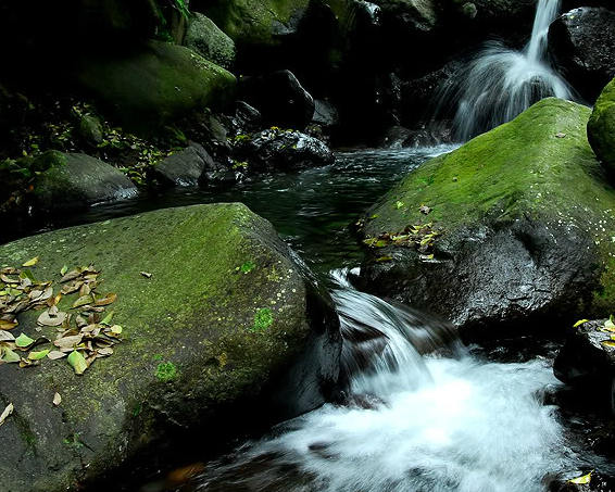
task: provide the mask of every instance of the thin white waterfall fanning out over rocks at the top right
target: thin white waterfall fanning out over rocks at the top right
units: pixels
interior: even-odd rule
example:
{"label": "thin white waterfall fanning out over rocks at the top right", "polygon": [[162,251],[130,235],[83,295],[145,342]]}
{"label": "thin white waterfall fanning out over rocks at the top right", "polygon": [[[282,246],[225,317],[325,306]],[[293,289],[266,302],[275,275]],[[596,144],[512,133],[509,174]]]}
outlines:
{"label": "thin white waterfall fanning out over rocks at the top right", "polygon": [[549,25],[560,0],[539,0],[531,38],[523,51],[491,41],[441,99],[440,106],[457,104],[453,119],[460,141],[510,122],[535,102],[554,96],[572,99],[572,91],[547,60]]}

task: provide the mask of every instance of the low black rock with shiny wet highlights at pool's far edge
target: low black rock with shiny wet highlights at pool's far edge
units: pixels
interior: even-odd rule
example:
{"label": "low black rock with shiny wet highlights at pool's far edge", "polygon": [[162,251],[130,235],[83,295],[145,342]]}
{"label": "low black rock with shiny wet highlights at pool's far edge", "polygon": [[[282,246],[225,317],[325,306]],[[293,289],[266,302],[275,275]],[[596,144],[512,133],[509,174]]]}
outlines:
{"label": "low black rock with shiny wet highlights at pool's far edge", "polygon": [[234,152],[248,169],[280,169],[332,164],[335,155],[317,138],[294,130],[268,129],[239,140]]}

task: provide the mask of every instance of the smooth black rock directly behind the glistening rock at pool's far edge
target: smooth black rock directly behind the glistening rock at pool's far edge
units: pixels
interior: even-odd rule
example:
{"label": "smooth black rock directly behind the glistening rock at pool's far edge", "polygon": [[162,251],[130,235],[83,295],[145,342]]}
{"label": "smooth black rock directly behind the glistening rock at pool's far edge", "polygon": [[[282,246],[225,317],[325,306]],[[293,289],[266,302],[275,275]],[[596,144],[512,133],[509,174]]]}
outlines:
{"label": "smooth black rock directly behind the glistening rock at pool's far edge", "polygon": [[261,112],[265,126],[303,129],[314,115],[314,99],[289,71],[241,77],[239,98]]}

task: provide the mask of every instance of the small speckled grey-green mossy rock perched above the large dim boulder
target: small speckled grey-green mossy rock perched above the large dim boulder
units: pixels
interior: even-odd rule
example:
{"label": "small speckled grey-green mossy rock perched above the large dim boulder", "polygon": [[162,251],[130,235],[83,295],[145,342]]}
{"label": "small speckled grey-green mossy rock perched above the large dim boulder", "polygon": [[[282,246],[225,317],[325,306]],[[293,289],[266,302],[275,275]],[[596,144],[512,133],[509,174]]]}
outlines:
{"label": "small speckled grey-green mossy rock perched above the large dim boulder", "polygon": [[194,12],[190,17],[184,46],[225,70],[233,70],[235,42],[199,12]]}

